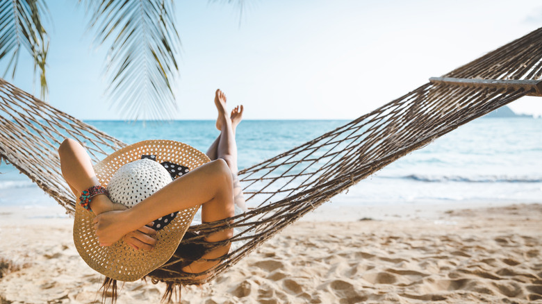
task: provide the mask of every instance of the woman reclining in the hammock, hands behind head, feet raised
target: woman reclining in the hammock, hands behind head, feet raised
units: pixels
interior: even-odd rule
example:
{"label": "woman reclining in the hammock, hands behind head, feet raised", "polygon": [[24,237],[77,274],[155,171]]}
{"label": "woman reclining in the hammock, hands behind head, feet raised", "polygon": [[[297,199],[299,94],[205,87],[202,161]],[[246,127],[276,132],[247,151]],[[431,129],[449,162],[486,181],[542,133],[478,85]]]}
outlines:
{"label": "woman reclining in the hammock, hands behind head, feet raised", "polygon": [[[110,246],[122,238],[136,250],[151,250],[156,244],[153,238],[156,231],[149,227],[152,226],[149,222],[195,205],[202,205],[203,222],[232,217],[234,202],[239,208],[246,210],[237,178],[235,140],[236,127],[243,117],[243,105],[234,108],[231,115],[228,115],[226,96],[220,90],[215,93],[215,105],[218,110],[216,126],[221,132],[206,153],[213,161],[190,171],[182,178],[177,178],[130,209],[113,203],[106,195],[92,197],[88,207],[97,215],[94,223],[101,246]],[[65,140],[58,153],[63,176],[76,196],[79,197],[85,189],[99,185],[90,157],[81,144],[74,140]],[[168,203],[162,203],[164,201]],[[205,237],[205,241],[219,242],[232,235],[232,229],[220,230]],[[203,258],[216,259],[228,251],[229,244],[215,248]],[[218,262],[219,260],[192,262],[184,267],[183,271],[200,273]]]}

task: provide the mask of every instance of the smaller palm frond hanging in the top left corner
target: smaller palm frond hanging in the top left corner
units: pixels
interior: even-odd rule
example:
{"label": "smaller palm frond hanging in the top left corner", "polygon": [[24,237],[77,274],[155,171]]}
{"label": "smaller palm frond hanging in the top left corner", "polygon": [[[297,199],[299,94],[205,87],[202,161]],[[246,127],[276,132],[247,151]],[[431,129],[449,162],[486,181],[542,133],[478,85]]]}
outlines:
{"label": "smaller palm frond hanging in the top left corner", "polygon": [[3,77],[8,71],[15,77],[21,49],[34,59],[34,72],[40,69],[41,98],[47,97],[47,50],[49,35],[42,24],[42,15],[49,10],[44,0],[0,0],[0,60],[11,53]]}

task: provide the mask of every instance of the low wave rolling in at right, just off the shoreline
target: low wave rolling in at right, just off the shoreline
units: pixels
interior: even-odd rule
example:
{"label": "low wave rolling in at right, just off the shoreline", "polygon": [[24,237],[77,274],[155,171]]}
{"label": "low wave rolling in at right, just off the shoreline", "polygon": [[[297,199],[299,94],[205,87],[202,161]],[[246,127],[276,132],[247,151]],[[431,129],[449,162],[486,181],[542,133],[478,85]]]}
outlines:
{"label": "low wave rolling in at right, just off the shoreline", "polygon": [[542,183],[541,176],[432,176],[411,174],[400,178],[426,183]]}

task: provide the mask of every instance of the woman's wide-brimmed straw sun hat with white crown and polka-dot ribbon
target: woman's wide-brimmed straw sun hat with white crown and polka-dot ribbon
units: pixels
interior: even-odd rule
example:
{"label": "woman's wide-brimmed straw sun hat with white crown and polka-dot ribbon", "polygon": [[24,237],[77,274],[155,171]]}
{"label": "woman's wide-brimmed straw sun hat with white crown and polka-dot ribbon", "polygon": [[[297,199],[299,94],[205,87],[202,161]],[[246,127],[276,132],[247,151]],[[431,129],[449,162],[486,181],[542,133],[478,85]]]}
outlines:
{"label": "woman's wide-brimmed straw sun hat with white crown and polka-dot ribbon", "polygon": [[[101,185],[110,192],[111,201],[130,208],[170,183],[172,178],[206,162],[209,158],[188,144],[147,140],[115,151],[94,169]],[[95,215],[78,203],[74,243],[92,269],[115,280],[135,281],[172,257],[198,208],[199,205],[157,219],[153,227],[157,230],[156,246],[151,251],[136,251],[122,239],[111,246],[99,246],[92,223]]]}

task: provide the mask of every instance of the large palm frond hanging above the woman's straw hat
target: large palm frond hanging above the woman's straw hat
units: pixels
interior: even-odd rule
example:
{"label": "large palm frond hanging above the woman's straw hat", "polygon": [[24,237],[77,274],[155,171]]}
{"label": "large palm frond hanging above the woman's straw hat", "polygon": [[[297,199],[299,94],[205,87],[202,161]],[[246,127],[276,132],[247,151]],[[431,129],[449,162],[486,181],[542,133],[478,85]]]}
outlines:
{"label": "large palm frond hanging above the woman's straw hat", "polygon": [[99,44],[110,41],[107,92],[130,119],[172,118],[181,40],[172,0],[80,0]]}

